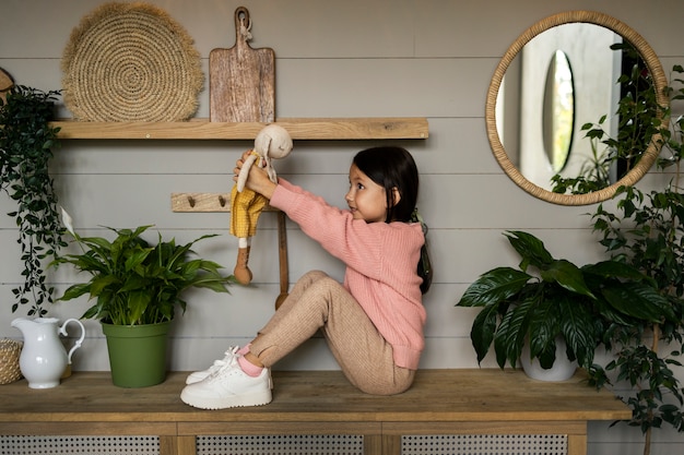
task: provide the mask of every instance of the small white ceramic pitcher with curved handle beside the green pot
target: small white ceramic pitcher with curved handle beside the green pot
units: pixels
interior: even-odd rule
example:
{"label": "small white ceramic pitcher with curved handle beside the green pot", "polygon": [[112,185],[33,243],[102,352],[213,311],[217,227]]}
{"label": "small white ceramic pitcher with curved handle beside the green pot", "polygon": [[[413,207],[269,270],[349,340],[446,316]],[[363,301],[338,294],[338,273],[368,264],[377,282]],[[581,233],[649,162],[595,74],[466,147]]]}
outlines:
{"label": "small white ceramic pitcher with curved handle beside the green pot", "polygon": [[[81,347],[85,338],[85,328],[81,321],[68,319],[61,326],[58,326],[58,322],[56,318],[16,318],[12,321],[12,327],[19,328],[24,336],[19,368],[31,388],[50,388],[59,385],[67,366],[71,364],[73,351]],[[71,322],[81,327],[81,337],[67,354],[59,335],[67,336],[67,324]]]}

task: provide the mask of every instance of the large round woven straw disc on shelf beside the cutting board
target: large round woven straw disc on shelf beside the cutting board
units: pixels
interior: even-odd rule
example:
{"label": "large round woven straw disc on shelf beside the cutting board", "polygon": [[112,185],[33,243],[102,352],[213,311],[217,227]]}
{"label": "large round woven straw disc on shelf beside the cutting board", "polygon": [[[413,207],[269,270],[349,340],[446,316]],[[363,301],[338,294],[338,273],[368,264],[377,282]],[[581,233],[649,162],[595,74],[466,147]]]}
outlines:
{"label": "large round woven straw disc on shelf beside the cutting board", "polygon": [[81,121],[187,120],[204,84],[185,28],[145,3],[105,3],[84,16],[61,69],[64,105]]}

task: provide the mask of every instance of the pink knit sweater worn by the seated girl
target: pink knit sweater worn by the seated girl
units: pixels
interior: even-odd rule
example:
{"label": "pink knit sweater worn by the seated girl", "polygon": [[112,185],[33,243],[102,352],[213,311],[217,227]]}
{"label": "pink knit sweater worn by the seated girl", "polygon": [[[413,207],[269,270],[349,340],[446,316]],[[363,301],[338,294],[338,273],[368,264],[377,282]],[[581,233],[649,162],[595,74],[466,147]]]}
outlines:
{"label": "pink knit sweater worn by the seated girl", "polygon": [[425,346],[421,277],[416,273],[425,238],[420,224],[365,223],[279,179],[271,205],[346,264],[344,287],[392,345],[394,363],[416,370]]}

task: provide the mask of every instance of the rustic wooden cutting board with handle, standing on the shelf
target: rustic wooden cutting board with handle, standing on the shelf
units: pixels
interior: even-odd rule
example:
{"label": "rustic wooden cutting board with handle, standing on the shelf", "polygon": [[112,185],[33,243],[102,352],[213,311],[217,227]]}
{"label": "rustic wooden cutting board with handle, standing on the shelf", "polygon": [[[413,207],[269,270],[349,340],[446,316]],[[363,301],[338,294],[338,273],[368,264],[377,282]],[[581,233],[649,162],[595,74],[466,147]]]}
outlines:
{"label": "rustic wooden cutting board with handle, standing on the shelf", "polygon": [[235,10],[235,46],[209,55],[211,121],[275,121],[275,52],[247,44],[250,26],[249,11],[239,7]]}

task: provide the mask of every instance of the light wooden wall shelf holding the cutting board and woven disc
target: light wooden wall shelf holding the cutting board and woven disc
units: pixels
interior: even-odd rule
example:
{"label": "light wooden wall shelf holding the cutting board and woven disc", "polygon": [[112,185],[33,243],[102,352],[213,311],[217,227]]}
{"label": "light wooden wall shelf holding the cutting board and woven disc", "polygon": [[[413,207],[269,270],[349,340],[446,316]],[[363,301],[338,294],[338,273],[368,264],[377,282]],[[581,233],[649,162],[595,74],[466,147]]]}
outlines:
{"label": "light wooden wall shelf holding the cutting board and woven disc", "polygon": [[[276,119],[294,140],[427,139],[425,118],[292,118]],[[81,122],[55,121],[60,139],[253,140],[267,123],[211,122]]]}

